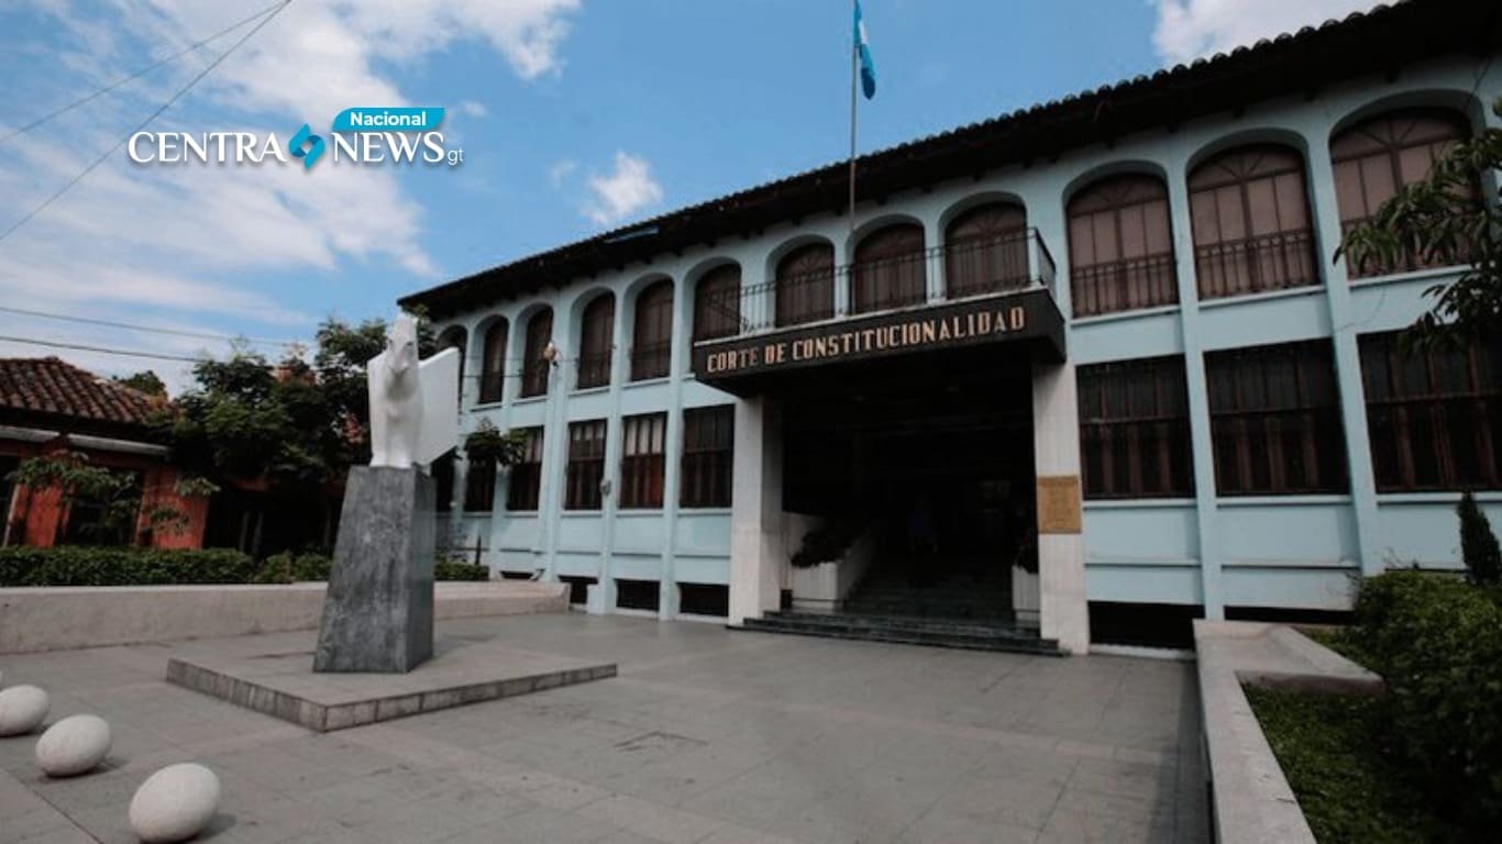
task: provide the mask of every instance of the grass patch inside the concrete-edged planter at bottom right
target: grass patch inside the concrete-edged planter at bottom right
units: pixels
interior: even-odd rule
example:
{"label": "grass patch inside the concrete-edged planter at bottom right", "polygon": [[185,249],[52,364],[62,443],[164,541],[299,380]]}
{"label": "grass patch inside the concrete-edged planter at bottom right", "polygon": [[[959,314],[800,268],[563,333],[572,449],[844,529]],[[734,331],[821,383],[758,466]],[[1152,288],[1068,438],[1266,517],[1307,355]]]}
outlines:
{"label": "grass patch inside the concrete-edged planter at bottom right", "polygon": [[1245,691],[1320,844],[1455,841],[1391,758],[1379,698]]}

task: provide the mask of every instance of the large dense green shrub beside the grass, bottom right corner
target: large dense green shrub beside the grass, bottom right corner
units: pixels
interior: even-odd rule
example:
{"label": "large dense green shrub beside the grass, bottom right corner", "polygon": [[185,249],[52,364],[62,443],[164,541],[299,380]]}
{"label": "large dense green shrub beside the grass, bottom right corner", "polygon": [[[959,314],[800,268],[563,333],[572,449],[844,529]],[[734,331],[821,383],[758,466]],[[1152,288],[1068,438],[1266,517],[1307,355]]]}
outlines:
{"label": "large dense green shrub beside the grass, bottom right corner", "polygon": [[1502,823],[1502,607],[1458,578],[1368,580],[1353,638],[1388,683],[1388,734],[1428,797],[1475,832]]}

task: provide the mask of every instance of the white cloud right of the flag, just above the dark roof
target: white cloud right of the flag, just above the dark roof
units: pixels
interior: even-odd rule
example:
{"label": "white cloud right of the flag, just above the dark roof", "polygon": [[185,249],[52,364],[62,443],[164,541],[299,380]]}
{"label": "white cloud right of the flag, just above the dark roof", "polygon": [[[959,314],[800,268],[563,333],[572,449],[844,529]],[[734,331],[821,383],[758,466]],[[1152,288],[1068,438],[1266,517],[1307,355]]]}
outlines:
{"label": "white cloud right of the flag, just above the dark roof", "polygon": [[1227,53],[1263,38],[1364,12],[1379,0],[1157,0],[1152,44],[1164,63]]}

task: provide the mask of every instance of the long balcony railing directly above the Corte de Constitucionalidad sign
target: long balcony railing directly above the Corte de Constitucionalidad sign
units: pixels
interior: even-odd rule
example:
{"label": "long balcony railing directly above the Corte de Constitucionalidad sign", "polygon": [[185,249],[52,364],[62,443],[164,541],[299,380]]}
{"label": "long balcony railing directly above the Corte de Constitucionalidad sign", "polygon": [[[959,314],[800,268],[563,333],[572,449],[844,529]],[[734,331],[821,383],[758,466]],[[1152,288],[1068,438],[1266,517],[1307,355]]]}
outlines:
{"label": "long balcony railing directly above the Corte de Constitucionalidad sign", "polygon": [[1053,255],[1029,228],[743,285],[710,294],[704,306],[748,335],[970,296],[1035,288],[1051,294],[1054,276]]}

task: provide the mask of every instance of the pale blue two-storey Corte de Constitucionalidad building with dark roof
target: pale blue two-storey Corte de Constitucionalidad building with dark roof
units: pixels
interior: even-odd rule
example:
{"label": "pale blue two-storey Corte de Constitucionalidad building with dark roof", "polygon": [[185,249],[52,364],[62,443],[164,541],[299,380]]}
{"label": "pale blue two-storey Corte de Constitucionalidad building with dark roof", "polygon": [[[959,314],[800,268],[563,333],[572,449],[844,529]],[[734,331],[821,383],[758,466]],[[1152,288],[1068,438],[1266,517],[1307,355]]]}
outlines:
{"label": "pale blue two-storey Corte de Constitucionalidad building with dark roof", "polygon": [[737,623],[820,524],[954,536],[1074,652],[1092,608],[1457,568],[1460,491],[1502,521],[1497,345],[1394,338],[1463,257],[1334,255],[1502,126],[1496,51],[1494,9],[1401,3],[862,156],[853,218],[831,165],[407,297],[464,350],[464,427],[529,437],[455,461],[460,542]]}

